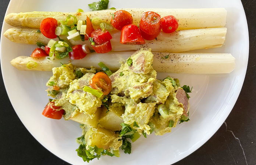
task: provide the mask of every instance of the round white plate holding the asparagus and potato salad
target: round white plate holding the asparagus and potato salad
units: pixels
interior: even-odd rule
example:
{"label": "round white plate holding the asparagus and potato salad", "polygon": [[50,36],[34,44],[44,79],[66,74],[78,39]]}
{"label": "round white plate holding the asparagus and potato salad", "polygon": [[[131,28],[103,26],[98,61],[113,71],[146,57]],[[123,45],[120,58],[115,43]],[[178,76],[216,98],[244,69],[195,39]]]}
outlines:
{"label": "round white plate holding the asparagus and potato salad", "polygon": [[[88,4],[98,0],[11,0],[7,13],[28,11],[74,12],[88,10]],[[245,78],[249,53],[248,27],[242,3],[239,0],[110,0],[115,8],[218,8],[227,10],[228,28],[223,47],[204,52],[231,53],[236,68],[230,74],[195,75],[170,74],[180,79],[181,85],[193,86],[189,122],[180,124],[164,136],[141,137],[132,144],[132,154],[121,157],[103,156],[90,164],[164,164],[170,165],[188,156],[202,146],[223,124],[232,110]],[[3,23],[2,35],[10,28]],[[43,117],[48,102],[45,92],[50,72],[24,72],[11,66],[10,61],[20,55],[30,55],[36,45],[15,44],[1,36],[1,67],[8,96],[19,118],[28,131],[49,151],[61,159],[84,165],[75,151],[76,137],[81,136],[79,124],[73,121],[51,120]],[[196,52],[196,51],[195,51]],[[200,51],[197,51],[200,52]],[[158,75],[163,78],[167,74]]]}

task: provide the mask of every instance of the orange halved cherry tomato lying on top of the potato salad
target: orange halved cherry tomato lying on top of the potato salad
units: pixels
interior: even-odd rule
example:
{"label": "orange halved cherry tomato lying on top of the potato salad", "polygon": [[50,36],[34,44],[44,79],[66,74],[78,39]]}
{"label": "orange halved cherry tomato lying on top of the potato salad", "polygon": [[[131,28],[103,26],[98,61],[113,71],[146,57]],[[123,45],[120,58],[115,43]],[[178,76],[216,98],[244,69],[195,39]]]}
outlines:
{"label": "orange halved cherry tomato lying on top of the potato salad", "polygon": [[89,85],[93,89],[97,89],[103,92],[103,95],[108,95],[112,88],[112,83],[106,73],[96,73],[89,82]]}

